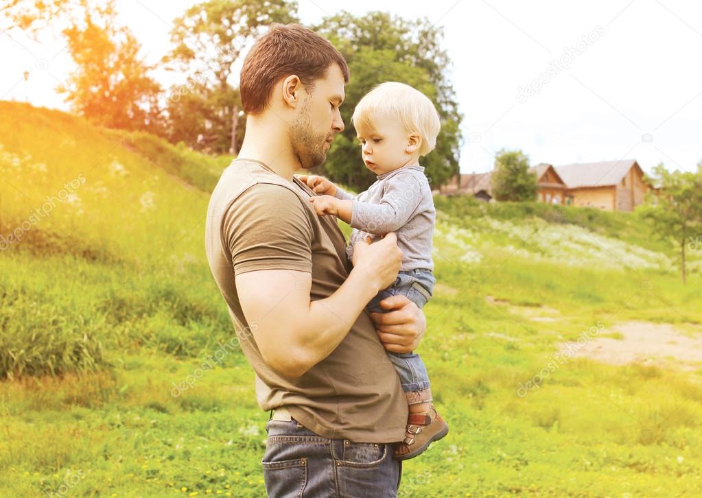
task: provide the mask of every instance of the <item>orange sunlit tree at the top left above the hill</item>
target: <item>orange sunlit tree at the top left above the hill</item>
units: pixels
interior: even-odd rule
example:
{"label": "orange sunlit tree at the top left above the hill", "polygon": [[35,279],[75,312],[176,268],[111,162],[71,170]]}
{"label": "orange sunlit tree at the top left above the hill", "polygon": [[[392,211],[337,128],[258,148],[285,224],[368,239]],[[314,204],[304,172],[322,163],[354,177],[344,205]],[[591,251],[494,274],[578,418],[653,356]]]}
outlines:
{"label": "orange sunlit tree at the top left above the hill", "polygon": [[126,27],[115,27],[114,0],[10,0],[0,6],[4,29],[36,39],[57,26],[76,68],[57,90],[74,112],[103,126],[157,131],[160,86],[139,57]]}

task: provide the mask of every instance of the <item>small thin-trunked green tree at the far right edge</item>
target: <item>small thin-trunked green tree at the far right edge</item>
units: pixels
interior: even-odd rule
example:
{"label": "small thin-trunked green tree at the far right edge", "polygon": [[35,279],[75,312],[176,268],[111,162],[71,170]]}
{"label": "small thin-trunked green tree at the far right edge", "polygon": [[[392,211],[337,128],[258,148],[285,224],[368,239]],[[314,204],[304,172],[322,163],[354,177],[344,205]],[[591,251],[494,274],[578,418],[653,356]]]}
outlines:
{"label": "small thin-trunked green tree at the far right edge", "polygon": [[687,283],[685,249],[690,242],[692,247],[698,245],[702,232],[702,163],[697,165],[696,173],[670,172],[663,163],[652,173],[647,180],[659,185],[659,190],[649,192],[636,213],[649,220],[661,238],[680,248],[680,274],[682,282]]}

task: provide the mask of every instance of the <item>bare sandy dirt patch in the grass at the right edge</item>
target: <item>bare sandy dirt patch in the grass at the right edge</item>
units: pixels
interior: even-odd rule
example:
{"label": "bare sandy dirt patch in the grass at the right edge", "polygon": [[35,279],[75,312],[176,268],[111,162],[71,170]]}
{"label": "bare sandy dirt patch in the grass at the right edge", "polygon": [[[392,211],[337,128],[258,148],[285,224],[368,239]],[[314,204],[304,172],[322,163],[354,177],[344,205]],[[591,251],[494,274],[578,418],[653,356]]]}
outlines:
{"label": "bare sandy dirt patch in the grass at the right edge", "polygon": [[669,323],[620,322],[602,330],[585,344],[562,344],[562,351],[569,349],[574,357],[615,365],[640,363],[698,370],[702,368],[702,329],[696,328],[696,331],[696,334],[685,335]]}

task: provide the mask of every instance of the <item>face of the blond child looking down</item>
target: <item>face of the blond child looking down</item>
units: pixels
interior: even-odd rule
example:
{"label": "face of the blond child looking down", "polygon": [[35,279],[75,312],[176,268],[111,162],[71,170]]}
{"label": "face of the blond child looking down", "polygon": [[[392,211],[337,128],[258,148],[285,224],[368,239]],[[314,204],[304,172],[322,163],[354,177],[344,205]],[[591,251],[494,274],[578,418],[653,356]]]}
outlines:
{"label": "face of the blond child looking down", "polygon": [[375,128],[359,123],[356,135],[361,142],[363,162],[376,175],[390,173],[417,159],[408,149],[410,133],[396,119],[376,119]]}

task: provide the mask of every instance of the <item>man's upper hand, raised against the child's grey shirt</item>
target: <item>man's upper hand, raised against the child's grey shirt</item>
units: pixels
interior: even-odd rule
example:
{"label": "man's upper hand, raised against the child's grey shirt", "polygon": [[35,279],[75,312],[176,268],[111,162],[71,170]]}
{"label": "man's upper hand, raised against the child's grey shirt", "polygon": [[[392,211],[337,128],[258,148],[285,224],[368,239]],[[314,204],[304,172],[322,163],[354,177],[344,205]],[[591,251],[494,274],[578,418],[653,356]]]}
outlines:
{"label": "man's upper hand, raised against the child's grey shirt", "polygon": [[367,276],[369,283],[377,282],[379,290],[388,287],[397,278],[402,266],[402,251],[397,247],[397,236],[390,232],[380,241],[371,238],[353,246],[353,267]]}

